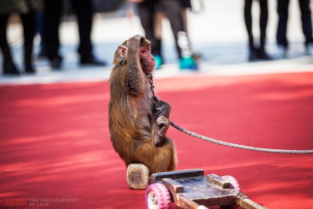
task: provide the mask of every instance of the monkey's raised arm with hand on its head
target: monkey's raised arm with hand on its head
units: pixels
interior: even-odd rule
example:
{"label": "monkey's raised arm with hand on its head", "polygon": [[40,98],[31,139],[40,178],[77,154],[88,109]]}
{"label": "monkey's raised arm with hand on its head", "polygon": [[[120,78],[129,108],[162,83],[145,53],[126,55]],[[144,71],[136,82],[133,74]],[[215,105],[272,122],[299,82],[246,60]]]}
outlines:
{"label": "monkey's raised arm with hand on its head", "polygon": [[125,83],[129,90],[135,95],[141,95],[144,93],[145,81],[139,58],[140,41],[143,38],[143,36],[136,35],[128,41],[128,69],[126,71]]}

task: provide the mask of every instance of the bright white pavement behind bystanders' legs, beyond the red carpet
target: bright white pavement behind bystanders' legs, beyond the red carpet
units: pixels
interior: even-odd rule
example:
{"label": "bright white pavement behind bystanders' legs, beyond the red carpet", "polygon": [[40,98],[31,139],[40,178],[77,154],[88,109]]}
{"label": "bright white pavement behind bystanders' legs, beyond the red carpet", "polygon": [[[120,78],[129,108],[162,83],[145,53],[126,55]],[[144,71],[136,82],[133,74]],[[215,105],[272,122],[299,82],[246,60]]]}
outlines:
{"label": "bright white pavement behind bystanders' legs, beyond the red carpet", "polygon": [[[194,2],[199,2],[195,0]],[[247,62],[247,35],[243,18],[244,0],[203,0],[200,13],[189,13],[189,35],[194,51],[202,55],[203,61],[199,73],[211,76],[229,76],[245,74],[264,74],[281,72],[313,71],[313,57],[305,55],[304,36],[301,28],[301,16],[297,0],[291,0],[288,23],[288,38],[291,42],[289,59],[282,59],[282,54],[275,44],[277,13],[276,0],[269,1],[268,44],[267,50],[274,60],[267,62]],[[253,31],[258,37],[258,3],[253,1]],[[311,5],[311,8],[313,6]],[[195,4],[195,9],[200,8]],[[61,54],[64,63],[60,71],[52,71],[46,60],[36,60],[35,75],[19,77],[0,76],[0,85],[54,83],[68,81],[107,80],[112,68],[113,53],[124,40],[134,34],[143,34],[139,19],[131,21],[125,17],[107,18],[95,15],[92,41],[95,55],[106,61],[108,67],[83,67],[78,65],[79,56],[76,48],[79,43],[77,24],[64,22],[60,26]],[[9,42],[18,67],[22,69],[22,27],[19,24],[9,26]],[[192,71],[180,71],[174,38],[168,21],[163,21],[163,55],[165,65],[156,70],[157,78],[199,75]],[[39,38],[35,40],[35,54],[38,53]],[[2,60],[0,60],[2,67]]]}

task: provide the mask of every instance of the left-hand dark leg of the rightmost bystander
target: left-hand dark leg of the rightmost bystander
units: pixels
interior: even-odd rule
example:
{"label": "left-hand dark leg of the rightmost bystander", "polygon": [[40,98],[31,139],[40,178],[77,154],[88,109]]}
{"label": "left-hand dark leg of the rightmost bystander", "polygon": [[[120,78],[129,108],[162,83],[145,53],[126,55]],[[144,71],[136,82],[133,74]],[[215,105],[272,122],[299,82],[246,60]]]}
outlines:
{"label": "left-hand dark leg of the rightmost bystander", "polygon": [[277,44],[288,47],[288,41],[286,37],[287,21],[288,21],[288,6],[289,0],[277,0],[277,13],[278,13],[278,27],[276,40]]}

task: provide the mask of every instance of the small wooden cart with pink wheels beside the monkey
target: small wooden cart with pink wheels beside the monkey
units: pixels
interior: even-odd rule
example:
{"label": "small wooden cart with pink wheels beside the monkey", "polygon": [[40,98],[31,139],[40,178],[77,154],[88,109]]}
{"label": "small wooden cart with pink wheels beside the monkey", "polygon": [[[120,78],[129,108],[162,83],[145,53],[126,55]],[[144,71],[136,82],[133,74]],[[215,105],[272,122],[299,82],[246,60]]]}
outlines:
{"label": "small wooden cart with pink wheels beside the monkey", "polygon": [[266,209],[240,192],[234,177],[203,174],[202,169],[152,174],[145,193],[147,209],[169,209],[171,202],[183,209]]}

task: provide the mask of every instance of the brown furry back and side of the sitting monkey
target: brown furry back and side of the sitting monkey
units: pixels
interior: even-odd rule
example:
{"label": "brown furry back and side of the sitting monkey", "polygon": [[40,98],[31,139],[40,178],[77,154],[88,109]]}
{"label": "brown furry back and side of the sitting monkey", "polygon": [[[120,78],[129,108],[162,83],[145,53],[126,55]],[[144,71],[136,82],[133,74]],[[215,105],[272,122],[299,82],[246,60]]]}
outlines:
{"label": "brown furry back and side of the sitting monkey", "polygon": [[[125,160],[124,155],[135,152],[135,144],[153,143],[152,93],[148,79],[145,91],[140,96],[132,96],[124,82],[125,73],[116,68],[110,75],[109,129],[115,151]],[[123,144],[123,146],[121,146]]]}

